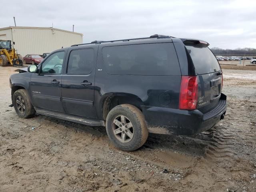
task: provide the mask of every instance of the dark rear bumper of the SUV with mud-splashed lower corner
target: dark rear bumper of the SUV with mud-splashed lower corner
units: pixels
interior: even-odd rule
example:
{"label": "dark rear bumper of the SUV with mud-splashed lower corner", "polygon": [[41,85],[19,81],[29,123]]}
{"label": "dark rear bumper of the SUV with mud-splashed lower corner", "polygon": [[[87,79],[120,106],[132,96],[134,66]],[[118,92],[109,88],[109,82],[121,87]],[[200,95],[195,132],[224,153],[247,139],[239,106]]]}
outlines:
{"label": "dark rear bumper of the SUV with mud-splashed lower corner", "polygon": [[158,134],[192,135],[206,131],[224,118],[227,102],[221,94],[217,106],[203,114],[199,110],[179,110],[142,106],[149,132]]}

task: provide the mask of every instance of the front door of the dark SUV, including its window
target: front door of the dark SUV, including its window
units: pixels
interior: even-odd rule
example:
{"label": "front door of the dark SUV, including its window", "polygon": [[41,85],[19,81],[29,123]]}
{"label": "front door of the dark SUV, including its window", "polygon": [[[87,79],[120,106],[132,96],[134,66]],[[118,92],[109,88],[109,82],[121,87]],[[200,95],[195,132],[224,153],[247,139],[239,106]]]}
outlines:
{"label": "front door of the dark SUV, including its window", "polygon": [[41,64],[39,74],[32,73],[30,90],[35,107],[64,112],[61,103],[64,51],[55,52]]}

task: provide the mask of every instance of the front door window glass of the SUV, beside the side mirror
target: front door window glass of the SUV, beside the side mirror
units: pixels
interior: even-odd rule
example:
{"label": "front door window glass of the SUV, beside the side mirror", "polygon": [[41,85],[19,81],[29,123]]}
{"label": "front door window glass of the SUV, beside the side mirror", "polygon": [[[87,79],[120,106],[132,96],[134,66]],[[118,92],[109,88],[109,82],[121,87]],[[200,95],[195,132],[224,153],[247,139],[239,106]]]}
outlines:
{"label": "front door window glass of the SUV, beside the side mirror", "polygon": [[41,73],[43,74],[61,74],[65,52],[56,52],[48,57],[42,64]]}

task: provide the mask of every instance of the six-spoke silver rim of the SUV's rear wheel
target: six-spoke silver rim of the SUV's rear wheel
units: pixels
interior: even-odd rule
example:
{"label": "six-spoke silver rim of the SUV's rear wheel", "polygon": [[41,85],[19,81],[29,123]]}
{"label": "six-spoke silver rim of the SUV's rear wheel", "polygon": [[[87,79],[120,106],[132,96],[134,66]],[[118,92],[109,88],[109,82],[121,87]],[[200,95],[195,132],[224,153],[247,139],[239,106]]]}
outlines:
{"label": "six-spoke silver rim of the SUV's rear wheel", "polygon": [[134,128],[132,122],[124,115],[114,118],[112,130],[115,137],[122,143],[128,143],[134,136]]}

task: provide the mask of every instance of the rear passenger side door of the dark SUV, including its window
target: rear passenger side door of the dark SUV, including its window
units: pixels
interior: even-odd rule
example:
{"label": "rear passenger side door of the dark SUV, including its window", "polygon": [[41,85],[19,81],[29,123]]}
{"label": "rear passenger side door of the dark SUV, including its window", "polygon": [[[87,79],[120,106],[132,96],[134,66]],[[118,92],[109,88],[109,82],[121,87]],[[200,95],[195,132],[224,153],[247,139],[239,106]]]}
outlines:
{"label": "rear passenger side door of the dark SUV, including its window", "polygon": [[62,104],[68,114],[97,118],[94,108],[96,51],[96,48],[70,51],[61,90]]}

